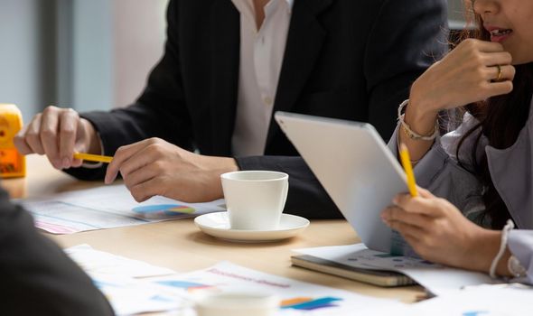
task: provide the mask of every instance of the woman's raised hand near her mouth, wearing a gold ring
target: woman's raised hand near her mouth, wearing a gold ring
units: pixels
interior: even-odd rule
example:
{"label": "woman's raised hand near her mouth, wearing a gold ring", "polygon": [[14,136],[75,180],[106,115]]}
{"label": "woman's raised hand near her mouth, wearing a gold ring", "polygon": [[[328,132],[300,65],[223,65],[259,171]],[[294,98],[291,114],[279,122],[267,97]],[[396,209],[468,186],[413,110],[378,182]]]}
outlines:
{"label": "woman's raised hand near her mouth, wearing a gold ring", "polygon": [[[425,113],[510,93],[515,75],[511,62],[510,53],[498,42],[465,40],[416,79],[407,111],[416,107],[415,121]],[[498,65],[501,76],[496,81]]]}

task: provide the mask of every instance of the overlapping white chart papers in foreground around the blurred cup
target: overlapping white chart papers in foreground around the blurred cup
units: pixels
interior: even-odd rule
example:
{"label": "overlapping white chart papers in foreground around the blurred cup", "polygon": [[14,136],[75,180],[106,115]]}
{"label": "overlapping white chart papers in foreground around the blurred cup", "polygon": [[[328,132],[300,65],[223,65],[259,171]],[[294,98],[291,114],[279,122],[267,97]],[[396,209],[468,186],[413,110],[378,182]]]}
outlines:
{"label": "overlapping white chart papers in foreground around the blurred cup", "polygon": [[117,315],[176,310],[194,315],[192,306],[199,297],[226,291],[275,293],[280,298],[279,315],[336,315],[402,305],[229,262],[175,274],[173,270],[94,250],[88,245],[71,247],[66,252],[89,273]]}

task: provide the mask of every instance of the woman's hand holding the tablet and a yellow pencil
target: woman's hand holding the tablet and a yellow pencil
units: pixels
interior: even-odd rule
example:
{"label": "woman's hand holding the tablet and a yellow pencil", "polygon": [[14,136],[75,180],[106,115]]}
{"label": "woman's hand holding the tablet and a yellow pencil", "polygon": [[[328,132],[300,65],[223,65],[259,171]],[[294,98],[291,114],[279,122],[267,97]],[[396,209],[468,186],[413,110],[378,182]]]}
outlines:
{"label": "woman's hand holding the tablet and a yellow pencil", "polygon": [[444,199],[418,188],[420,196],[399,194],[381,218],[426,260],[476,271],[489,271],[500,246],[498,232],[473,224]]}

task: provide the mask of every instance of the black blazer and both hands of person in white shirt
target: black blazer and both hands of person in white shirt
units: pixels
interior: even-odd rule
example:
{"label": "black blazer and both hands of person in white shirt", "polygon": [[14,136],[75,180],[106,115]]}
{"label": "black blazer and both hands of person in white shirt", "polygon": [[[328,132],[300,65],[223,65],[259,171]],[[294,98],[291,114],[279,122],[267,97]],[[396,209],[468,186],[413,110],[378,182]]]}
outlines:
{"label": "black blazer and both hands of person in white shirt", "polygon": [[[23,153],[47,154],[59,169],[81,165],[72,159],[74,149],[115,155],[106,181],[119,172],[139,201],[154,195],[215,200],[222,197],[223,172],[287,172],[286,212],[340,217],[272,115],[364,121],[388,137],[411,83],[447,50],[446,1],[295,0],[265,150],[251,156],[238,156],[231,143],[242,92],[234,3],[171,0],[163,59],[135,104],[81,116],[48,107],[15,144]],[[105,167],[85,166],[67,172],[88,180],[106,174]]]}

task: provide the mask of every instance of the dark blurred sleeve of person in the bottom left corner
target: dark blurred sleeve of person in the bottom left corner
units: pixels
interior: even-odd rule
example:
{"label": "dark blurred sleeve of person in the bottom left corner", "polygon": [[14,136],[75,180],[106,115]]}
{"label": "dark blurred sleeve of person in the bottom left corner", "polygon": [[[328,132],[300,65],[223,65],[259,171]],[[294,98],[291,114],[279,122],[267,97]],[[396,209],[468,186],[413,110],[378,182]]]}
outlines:
{"label": "dark blurred sleeve of person in the bottom left corner", "polygon": [[89,276],[0,189],[0,314],[113,315]]}

